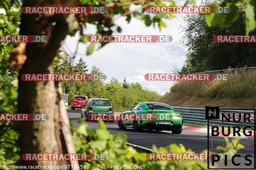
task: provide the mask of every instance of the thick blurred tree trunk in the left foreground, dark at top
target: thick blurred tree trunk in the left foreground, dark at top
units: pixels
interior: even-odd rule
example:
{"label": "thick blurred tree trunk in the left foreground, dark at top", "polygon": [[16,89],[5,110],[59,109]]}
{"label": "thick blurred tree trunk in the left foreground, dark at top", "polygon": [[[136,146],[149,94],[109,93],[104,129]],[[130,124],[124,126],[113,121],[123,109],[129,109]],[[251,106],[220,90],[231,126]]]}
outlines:
{"label": "thick blurred tree trunk in the left foreground, dark at top", "polygon": [[[60,2],[51,5],[43,3],[45,2],[25,0],[24,6],[58,6],[57,3]],[[22,74],[53,74],[51,67],[53,58],[56,56],[61,42],[68,34],[67,17],[68,15],[62,14],[21,15],[20,35],[47,35],[49,37],[47,43],[27,43],[26,49],[24,49],[27,60],[19,73],[19,113],[47,114],[49,119],[20,123],[21,155],[23,153],[76,153],[67,111],[64,109],[64,101],[61,99],[60,83],[21,80]],[[56,22],[56,24],[52,25],[53,22]],[[78,161],[22,160],[21,164],[41,166],[78,165]]]}

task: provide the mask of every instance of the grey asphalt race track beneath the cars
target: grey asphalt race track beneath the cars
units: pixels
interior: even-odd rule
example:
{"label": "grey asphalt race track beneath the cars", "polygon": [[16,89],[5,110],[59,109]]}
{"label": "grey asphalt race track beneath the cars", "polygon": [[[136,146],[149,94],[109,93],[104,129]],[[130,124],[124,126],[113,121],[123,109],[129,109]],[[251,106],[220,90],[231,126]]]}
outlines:
{"label": "grey asphalt race track beneath the cars", "polygon": [[[69,119],[77,120],[81,117],[80,110],[67,110]],[[98,122],[87,122],[89,128],[99,128]],[[193,152],[199,153],[207,149],[207,134],[193,131],[185,131],[183,130],[181,134],[172,134],[171,131],[148,131],[143,130],[142,132],[133,132],[131,128],[127,128],[126,130],[121,130],[118,128],[117,121],[113,123],[105,123],[110,134],[115,133],[125,133],[127,135],[127,142],[135,145],[143,146],[151,149],[152,145],[155,144],[156,147],[165,147],[170,144],[183,144],[186,149],[192,149]],[[74,123],[74,126],[78,126],[78,123]],[[211,139],[211,138],[210,138]],[[231,141],[232,138],[229,138]],[[231,161],[228,161],[228,168],[248,168],[244,165],[244,163],[248,163],[248,161],[244,160],[245,154],[254,153],[254,143],[253,140],[248,139],[240,139],[241,144],[245,146],[244,149],[239,150],[237,153],[241,155],[241,158],[236,158],[237,163],[241,163],[239,167],[231,165]],[[215,137],[210,140],[210,148],[216,148],[218,145],[224,145],[223,137]],[[216,151],[215,151],[216,152]],[[253,160],[253,159],[252,159]],[[253,162],[251,168],[253,167]],[[224,168],[219,165],[219,168]]]}

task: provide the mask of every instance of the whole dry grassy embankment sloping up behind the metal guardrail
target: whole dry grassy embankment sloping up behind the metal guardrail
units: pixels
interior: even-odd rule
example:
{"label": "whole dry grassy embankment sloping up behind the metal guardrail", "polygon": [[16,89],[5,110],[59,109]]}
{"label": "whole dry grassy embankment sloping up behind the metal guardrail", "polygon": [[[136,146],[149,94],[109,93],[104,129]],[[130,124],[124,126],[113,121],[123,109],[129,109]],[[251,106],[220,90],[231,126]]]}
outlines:
{"label": "whole dry grassy embankment sloping up behind the metal guardrail", "polygon": [[[226,72],[228,80],[221,81],[180,81],[176,82],[169,94],[158,102],[171,106],[205,108],[255,108],[256,70]],[[202,124],[185,123],[187,126],[205,127]]]}

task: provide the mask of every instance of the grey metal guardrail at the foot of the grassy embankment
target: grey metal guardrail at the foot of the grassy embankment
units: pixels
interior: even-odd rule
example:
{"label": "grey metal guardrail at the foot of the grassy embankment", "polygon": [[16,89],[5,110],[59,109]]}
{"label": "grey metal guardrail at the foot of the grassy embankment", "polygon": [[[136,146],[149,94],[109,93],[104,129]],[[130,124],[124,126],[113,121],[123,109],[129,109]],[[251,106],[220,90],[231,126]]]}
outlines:
{"label": "grey metal guardrail at the foot of the grassy embankment", "polygon": [[[184,122],[189,122],[189,123],[197,123],[197,124],[207,124],[207,119],[205,119],[205,109],[201,108],[188,108],[188,107],[173,107],[173,109],[178,109],[180,110],[180,114],[184,119]],[[249,113],[253,114],[253,111],[249,110],[224,110],[220,109],[220,113]],[[221,126],[240,126],[244,127],[246,125],[253,126],[253,121],[251,123],[249,122],[239,122],[239,123],[234,123],[234,122],[224,122],[222,123],[221,121],[217,120],[209,120],[209,123],[211,125],[221,125]]]}

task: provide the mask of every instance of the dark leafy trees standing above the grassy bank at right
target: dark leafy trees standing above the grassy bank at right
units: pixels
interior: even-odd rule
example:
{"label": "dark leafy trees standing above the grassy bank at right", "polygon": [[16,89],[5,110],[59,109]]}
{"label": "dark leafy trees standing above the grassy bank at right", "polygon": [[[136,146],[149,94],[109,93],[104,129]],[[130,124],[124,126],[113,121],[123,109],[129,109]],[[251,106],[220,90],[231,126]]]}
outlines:
{"label": "dark leafy trees standing above the grassy bank at right", "polygon": [[[238,65],[242,67],[256,65],[256,51],[253,43],[216,43],[213,41],[215,35],[244,35],[245,7],[241,6],[238,10],[236,21],[228,23],[223,28],[218,25],[208,27],[205,23],[207,18],[204,15],[185,17],[187,25],[183,28],[185,32],[183,43],[188,48],[188,54],[181,70],[182,73],[221,70]],[[252,35],[255,33],[255,31],[251,32]]]}

